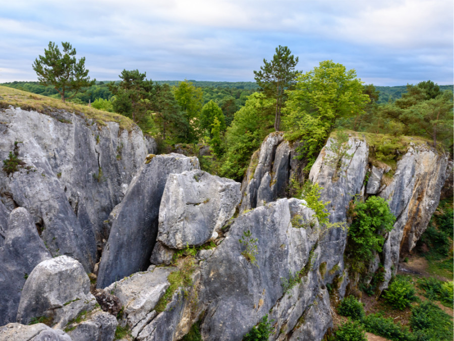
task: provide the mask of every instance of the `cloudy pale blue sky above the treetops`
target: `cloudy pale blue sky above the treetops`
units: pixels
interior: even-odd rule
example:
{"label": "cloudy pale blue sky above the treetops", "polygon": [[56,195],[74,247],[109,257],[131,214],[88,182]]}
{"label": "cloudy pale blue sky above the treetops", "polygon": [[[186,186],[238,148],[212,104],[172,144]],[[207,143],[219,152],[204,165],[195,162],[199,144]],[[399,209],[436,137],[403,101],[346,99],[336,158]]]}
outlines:
{"label": "cloudy pale blue sky above the treetops", "polygon": [[36,81],[49,41],[91,79],[254,81],[288,46],[305,73],[332,60],[366,84],[453,84],[452,0],[0,0],[0,83]]}

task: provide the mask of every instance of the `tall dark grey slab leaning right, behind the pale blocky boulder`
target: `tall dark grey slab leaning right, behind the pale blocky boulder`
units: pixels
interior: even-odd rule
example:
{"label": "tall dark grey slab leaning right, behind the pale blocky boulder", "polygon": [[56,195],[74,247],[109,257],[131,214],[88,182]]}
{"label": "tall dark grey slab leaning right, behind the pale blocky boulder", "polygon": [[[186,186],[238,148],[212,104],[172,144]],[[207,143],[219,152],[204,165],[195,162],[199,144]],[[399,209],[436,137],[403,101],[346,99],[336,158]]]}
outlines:
{"label": "tall dark grey slab leaning right, behind the pale blocky boulder", "polygon": [[167,176],[198,169],[197,158],[180,154],[149,156],[112,211],[107,245],[99,264],[97,287],[146,270],[158,232],[159,204]]}

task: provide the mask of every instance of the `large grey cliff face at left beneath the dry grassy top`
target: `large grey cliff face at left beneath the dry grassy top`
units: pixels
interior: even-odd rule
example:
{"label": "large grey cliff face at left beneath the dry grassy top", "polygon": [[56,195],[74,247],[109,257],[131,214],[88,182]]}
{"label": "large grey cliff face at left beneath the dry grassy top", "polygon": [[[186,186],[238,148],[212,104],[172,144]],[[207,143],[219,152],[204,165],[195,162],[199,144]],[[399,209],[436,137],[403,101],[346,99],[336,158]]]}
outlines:
{"label": "large grey cliff face at left beneath the dry grassy top", "polygon": [[103,221],[154,152],[147,150],[153,141],[138,127],[100,125],[61,110],[44,115],[10,107],[0,110],[0,121],[0,159],[12,152],[24,162],[9,176],[1,171],[0,201],[8,211],[26,208],[51,254],[69,255],[90,272],[108,236]]}

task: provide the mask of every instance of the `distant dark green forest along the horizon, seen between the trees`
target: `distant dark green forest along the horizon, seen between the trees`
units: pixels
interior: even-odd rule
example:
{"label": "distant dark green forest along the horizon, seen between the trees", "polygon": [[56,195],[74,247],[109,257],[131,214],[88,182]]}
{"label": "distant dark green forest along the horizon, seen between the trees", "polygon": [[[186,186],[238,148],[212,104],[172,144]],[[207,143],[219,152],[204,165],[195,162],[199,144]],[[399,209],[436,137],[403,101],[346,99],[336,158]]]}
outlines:
{"label": "distant dark green forest along the horizon, seen between the trees", "polygon": [[[203,89],[203,104],[213,100],[216,103],[225,102],[228,99],[235,99],[237,107],[242,107],[246,102],[247,96],[258,90],[256,82],[213,82],[213,81],[197,81],[189,79],[194,86]],[[89,101],[94,102],[96,99],[109,100],[113,94],[110,92],[107,84],[111,81],[97,81],[83,93],[78,93],[72,102],[80,102],[87,104]],[[120,81],[115,81],[119,83]],[[178,80],[155,80],[156,84],[168,84],[176,86],[181,81]],[[60,98],[59,93],[50,86],[40,85],[39,82],[9,82],[0,85],[14,87],[19,90],[29,91],[33,93]],[[440,91],[451,90],[453,91],[454,85],[439,85]],[[393,103],[395,100],[400,99],[403,93],[407,92],[406,85],[399,86],[375,86],[379,91],[379,97],[376,101],[377,104],[385,104],[388,102]],[[238,108],[239,109],[239,108]]]}

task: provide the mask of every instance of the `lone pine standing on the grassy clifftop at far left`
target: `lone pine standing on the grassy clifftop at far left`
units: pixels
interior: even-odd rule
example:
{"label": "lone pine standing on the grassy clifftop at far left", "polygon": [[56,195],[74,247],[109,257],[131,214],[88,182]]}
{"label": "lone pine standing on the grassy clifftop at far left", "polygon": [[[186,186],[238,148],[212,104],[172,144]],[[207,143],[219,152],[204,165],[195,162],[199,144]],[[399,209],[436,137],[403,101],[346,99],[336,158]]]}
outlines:
{"label": "lone pine standing on the grassy clifftop at far left", "polygon": [[85,57],[76,60],[76,49],[69,42],[63,42],[63,54],[59,45],[49,41],[48,50],[44,49],[44,56],[39,56],[33,63],[33,70],[38,75],[40,84],[52,85],[66,101],[66,93],[75,91],[69,98],[73,98],[83,87],[88,87],[96,81],[90,81],[88,70],[85,70]]}

